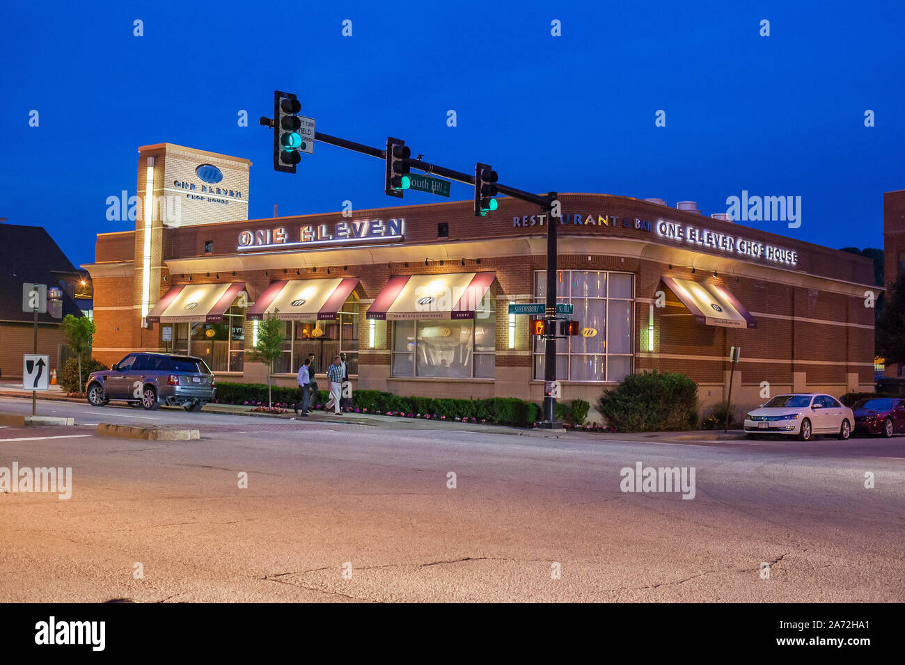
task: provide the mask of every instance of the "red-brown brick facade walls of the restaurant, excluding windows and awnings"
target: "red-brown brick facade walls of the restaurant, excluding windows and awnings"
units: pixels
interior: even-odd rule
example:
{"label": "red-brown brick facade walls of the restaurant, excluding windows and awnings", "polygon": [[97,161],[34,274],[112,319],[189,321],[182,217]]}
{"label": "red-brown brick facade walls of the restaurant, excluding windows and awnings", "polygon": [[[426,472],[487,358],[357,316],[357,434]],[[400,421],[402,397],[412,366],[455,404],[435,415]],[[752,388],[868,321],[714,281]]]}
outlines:
{"label": "red-brown brick facade walls of the restaurant, excluding windows and awnings", "polygon": [[[139,176],[139,182],[141,178]],[[675,219],[686,224],[732,233],[738,237],[767,242],[792,249],[799,254],[795,267],[781,266],[767,261],[746,260],[745,271],[737,271],[741,260],[731,252],[703,252],[699,248],[664,240],[655,233],[625,227],[600,224],[560,224],[562,239],[560,248],[571,247],[569,252],[559,256],[560,270],[624,271],[635,276],[636,306],[634,310],[634,369],[660,369],[679,371],[691,375],[702,386],[702,402],[714,404],[723,398],[729,380],[729,347],[743,349],[742,360],[737,366],[733,388],[733,401],[742,405],[762,402],[758,397],[761,384],[767,381],[777,386],[777,390],[801,390],[805,386],[842,394],[849,388],[870,389],[872,385],[873,358],[873,311],[863,306],[863,298],[856,295],[858,289],[853,284],[872,282],[872,263],[862,257],[836,252],[805,242],[797,242],[782,236],[740,227],[733,223],[721,222],[677,211],[664,206],[649,204],[634,199],[607,195],[562,195],[563,211],[568,214],[608,214],[627,216],[654,221],[660,218]],[[345,221],[340,214],[324,214],[306,217],[279,218],[274,220],[253,220],[224,222],[206,226],[187,226],[178,229],[160,230],[159,257],[152,264],[160,266],[159,292],[157,299],[167,288],[183,283],[207,283],[223,281],[244,281],[250,301],[257,299],[273,280],[319,279],[349,276],[360,280],[357,294],[362,299],[359,308],[359,385],[398,391],[414,391],[418,394],[453,396],[474,394],[500,394],[539,400],[542,382],[534,382],[531,377],[531,340],[528,334],[528,317],[517,318],[515,348],[509,348],[509,317],[506,306],[510,299],[521,302],[534,301],[535,271],[546,268],[546,257],[542,250],[532,250],[523,255],[493,255],[483,252],[480,263],[475,250],[456,254],[458,244],[482,240],[485,244],[495,241],[520,242],[525,238],[542,238],[544,226],[524,228],[513,225],[513,218],[524,215],[527,206],[508,199],[500,202],[500,210],[489,218],[477,219],[472,216],[472,204],[460,202],[452,204],[418,205],[400,208],[386,208],[375,211],[359,211],[353,219],[405,218],[404,261],[378,261],[373,258],[376,251],[344,247],[343,254],[348,262],[336,265],[330,261],[331,253],[338,247],[300,253],[298,247],[288,249],[285,257],[273,258],[273,248],[266,250],[271,256],[271,268],[253,270],[233,270],[237,265],[238,234],[244,230],[268,227],[285,227],[287,232],[302,223],[334,223]],[[572,212],[574,211],[574,213]],[[660,215],[665,215],[661,217]],[[437,224],[449,224],[449,237],[438,238]],[[580,242],[575,242],[575,239]],[[571,239],[572,244],[569,244]],[[295,240],[298,240],[297,238]],[[205,241],[212,241],[213,252],[205,252]],[[419,246],[419,243],[422,243]],[[379,244],[379,241],[376,242]],[[129,261],[127,242],[116,234],[99,236],[97,255],[105,261]],[[136,241],[134,257],[140,257],[140,243]],[[464,245],[462,245],[464,246]],[[468,245],[481,247],[481,245]],[[486,244],[490,247],[491,244]],[[527,241],[526,241],[527,246]],[[576,251],[580,247],[580,253]],[[628,248],[628,249],[626,249]],[[632,248],[634,248],[632,250]],[[640,249],[639,249],[640,248]],[[302,248],[304,249],[304,248]],[[630,251],[631,250],[631,251]],[[119,256],[117,256],[119,252]],[[392,252],[390,250],[386,250]],[[400,250],[400,258],[403,258]],[[241,252],[254,264],[255,251]],[[621,254],[621,255],[620,255]],[[381,254],[383,255],[383,254]],[[414,256],[421,256],[415,260]],[[691,256],[689,260],[670,266],[672,259],[666,256]],[[439,257],[443,256],[441,259]],[[132,258],[134,258],[132,257]],[[425,266],[424,259],[428,260]],[[197,263],[191,261],[198,260]],[[464,260],[465,265],[462,265]],[[138,259],[137,259],[138,261]],[[154,261],[159,261],[155,263]],[[169,268],[167,261],[170,262]],[[204,261],[204,263],[200,262]],[[244,261],[244,260],[243,260]],[[443,264],[441,265],[441,261]],[[692,262],[689,262],[692,261]],[[695,262],[697,261],[697,262]],[[691,273],[692,265],[719,264],[717,275],[713,268]],[[714,262],[715,261],[715,262]],[[191,263],[205,265],[206,269],[186,269]],[[406,265],[407,263],[407,265]],[[316,270],[315,270],[316,269]],[[183,272],[181,270],[186,270]],[[459,271],[495,271],[498,285],[494,286],[497,300],[496,314],[496,380],[486,381],[437,381],[413,379],[409,381],[389,377],[390,339],[386,322],[376,323],[377,338],[373,348],[368,347],[369,322],[367,308],[386,281],[393,275],[443,273]],[[753,272],[752,272],[753,271]],[[233,274],[233,272],[235,274]],[[739,274],[733,274],[738,272]],[[130,307],[136,304],[138,292],[140,304],[140,281],[135,273],[136,283],[129,280],[95,279],[95,318],[99,323],[98,347],[120,347],[110,356],[96,354],[104,362],[116,356],[115,362],[129,350],[129,343],[141,347],[161,347],[159,328],[136,331],[133,316],[131,337],[118,321],[125,321],[125,313],[119,310],[102,309],[104,306]],[[756,274],[757,276],[751,276]],[[661,277],[670,275],[681,279],[707,280],[730,290],[757,318],[757,329],[716,328],[694,323],[687,309],[664,288]],[[164,280],[166,278],[166,281]],[[815,280],[814,278],[821,278]],[[808,282],[804,284],[804,282]],[[804,285],[803,285],[804,284]],[[819,285],[819,286],[817,286]],[[649,353],[642,348],[646,340],[648,306],[658,290],[669,294],[667,307],[655,309],[654,350]],[[131,293],[132,295],[129,295]],[[152,303],[156,301],[152,297]],[[100,306],[100,310],[98,309]],[[122,310],[125,312],[126,310]],[[675,316],[664,316],[672,314]],[[140,316],[138,317],[140,319]],[[119,327],[119,330],[116,328]],[[251,336],[246,335],[250,344]],[[129,341],[131,340],[131,341]],[[646,342],[645,342],[646,344]],[[108,353],[108,352],[105,352]],[[109,364],[109,363],[108,363]],[[246,364],[245,375],[252,370]],[[505,371],[500,371],[505,370]],[[230,378],[241,380],[242,377]],[[799,385],[805,382],[805,385]],[[291,377],[280,377],[278,383],[291,385]],[[496,387],[494,387],[494,384]],[[566,385],[564,397],[571,399],[581,396],[592,404],[596,402],[604,386],[599,384]],[[737,392],[738,391],[738,392]]]}

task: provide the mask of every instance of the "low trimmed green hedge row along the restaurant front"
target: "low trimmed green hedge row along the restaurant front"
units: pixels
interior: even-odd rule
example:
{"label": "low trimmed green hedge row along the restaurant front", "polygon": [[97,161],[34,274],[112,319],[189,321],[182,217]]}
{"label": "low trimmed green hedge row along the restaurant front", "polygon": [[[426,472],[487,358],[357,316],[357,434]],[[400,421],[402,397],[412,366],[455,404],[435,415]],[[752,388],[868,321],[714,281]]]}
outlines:
{"label": "low trimmed green hedge row along the restaurant front", "polygon": [[[273,386],[274,404],[294,404],[299,401],[298,388]],[[329,400],[326,390],[318,391],[314,404]],[[267,404],[267,386],[263,384],[218,383],[216,401],[223,404]],[[379,390],[357,390],[353,393],[355,408],[370,413],[430,413],[446,418],[487,421],[504,425],[529,426],[538,421],[537,404],[515,397],[463,400],[443,397],[403,397]]]}

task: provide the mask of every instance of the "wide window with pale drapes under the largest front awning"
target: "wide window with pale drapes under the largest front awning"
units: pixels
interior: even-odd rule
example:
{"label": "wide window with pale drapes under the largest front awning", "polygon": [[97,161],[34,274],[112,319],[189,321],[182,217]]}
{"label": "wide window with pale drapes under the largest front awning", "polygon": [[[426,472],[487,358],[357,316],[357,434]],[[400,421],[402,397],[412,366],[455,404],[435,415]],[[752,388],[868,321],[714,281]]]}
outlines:
{"label": "wide window with pale drapes under the largest front awning", "polygon": [[496,327],[492,301],[474,319],[394,321],[392,375],[493,378]]}

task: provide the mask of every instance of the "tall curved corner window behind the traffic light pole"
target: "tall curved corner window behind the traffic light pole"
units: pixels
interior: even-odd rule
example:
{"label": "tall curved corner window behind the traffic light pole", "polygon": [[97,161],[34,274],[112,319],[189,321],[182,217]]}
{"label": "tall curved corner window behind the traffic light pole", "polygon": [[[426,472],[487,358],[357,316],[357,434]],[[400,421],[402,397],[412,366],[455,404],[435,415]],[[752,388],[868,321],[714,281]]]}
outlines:
{"label": "tall curved corner window behind the traffic light pole", "polygon": [[[547,271],[534,273],[538,302],[547,297]],[[633,275],[628,272],[558,271],[557,302],[571,303],[582,334],[557,339],[557,378],[622,381],[632,373]],[[535,338],[534,378],[544,378],[544,342]]]}

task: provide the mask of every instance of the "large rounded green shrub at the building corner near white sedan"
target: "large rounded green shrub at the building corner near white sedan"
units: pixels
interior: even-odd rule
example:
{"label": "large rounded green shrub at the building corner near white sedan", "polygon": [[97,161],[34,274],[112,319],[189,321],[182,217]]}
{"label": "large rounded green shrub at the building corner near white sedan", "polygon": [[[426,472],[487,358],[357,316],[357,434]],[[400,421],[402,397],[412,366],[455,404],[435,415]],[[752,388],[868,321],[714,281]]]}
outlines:
{"label": "large rounded green shrub at the building corner near white sedan", "polygon": [[614,432],[689,430],[698,421],[698,385],[673,372],[628,375],[600,398],[600,413]]}

